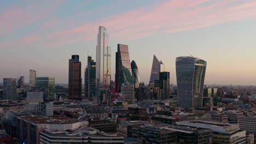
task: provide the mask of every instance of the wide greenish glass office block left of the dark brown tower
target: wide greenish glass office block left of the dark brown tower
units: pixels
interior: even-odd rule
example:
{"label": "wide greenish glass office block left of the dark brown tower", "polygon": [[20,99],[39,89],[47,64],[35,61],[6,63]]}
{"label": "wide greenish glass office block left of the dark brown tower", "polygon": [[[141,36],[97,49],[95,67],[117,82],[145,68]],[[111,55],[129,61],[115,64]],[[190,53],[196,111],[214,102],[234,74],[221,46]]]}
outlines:
{"label": "wide greenish glass office block left of the dark brown tower", "polygon": [[37,77],[37,91],[43,92],[44,101],[54,100],[55,78]]}

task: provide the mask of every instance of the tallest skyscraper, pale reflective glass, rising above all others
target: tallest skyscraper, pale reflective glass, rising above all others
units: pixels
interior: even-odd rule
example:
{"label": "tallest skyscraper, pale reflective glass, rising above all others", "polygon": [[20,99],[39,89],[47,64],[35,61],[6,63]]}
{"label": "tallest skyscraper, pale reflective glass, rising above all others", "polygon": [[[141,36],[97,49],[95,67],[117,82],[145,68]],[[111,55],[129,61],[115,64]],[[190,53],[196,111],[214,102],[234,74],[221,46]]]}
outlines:
{"label": "tallest skyscraper, pale reflective glass, rising above all others", "polygon": [[105,89],[110,88],[111,80],[111,49],[108,46],[108,33],[103,26],[98,27],[96,63],[97,102],[100,104],[103,93],[106,93]]}

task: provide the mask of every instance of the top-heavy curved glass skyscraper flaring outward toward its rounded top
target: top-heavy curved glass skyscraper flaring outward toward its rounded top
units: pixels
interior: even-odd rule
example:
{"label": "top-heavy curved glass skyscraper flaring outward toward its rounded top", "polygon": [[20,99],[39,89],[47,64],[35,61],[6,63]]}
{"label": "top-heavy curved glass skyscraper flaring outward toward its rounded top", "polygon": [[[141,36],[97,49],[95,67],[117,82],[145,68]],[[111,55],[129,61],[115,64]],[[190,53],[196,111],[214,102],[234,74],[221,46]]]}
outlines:
{"label": "top-heavy curved glass skyscraper flaring outward toward its rounded top", "polygon": [[206,61],[195,57],[176,58],[179,106],[201,107]]}

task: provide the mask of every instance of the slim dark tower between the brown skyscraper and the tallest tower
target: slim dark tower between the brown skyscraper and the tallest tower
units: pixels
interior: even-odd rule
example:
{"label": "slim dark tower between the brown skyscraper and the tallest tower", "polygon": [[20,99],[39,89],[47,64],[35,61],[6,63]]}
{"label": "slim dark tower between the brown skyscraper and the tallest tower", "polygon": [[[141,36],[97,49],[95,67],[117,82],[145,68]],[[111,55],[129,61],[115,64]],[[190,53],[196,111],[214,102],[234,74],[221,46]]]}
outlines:
{"label": "slim dark tower between the brown skyscraper and the tallest tower", "polygon": [[85,95],[88,95],[89,100],[94,100],[96,96],[96,62],[88,56],[88,64],[85,70]]}

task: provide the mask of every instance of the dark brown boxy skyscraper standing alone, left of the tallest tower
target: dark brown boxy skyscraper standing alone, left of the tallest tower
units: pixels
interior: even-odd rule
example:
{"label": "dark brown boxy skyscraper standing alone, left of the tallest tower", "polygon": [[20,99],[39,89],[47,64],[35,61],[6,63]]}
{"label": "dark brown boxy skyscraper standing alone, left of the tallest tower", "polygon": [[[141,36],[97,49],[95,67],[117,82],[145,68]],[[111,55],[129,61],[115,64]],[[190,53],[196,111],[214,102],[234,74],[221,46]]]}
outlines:
{"label": "dark brown boxy skyscraper standing alone, left of the tallest tower", "polygon": [[82,79],[81,62],[78,55],[72,55],[69,59],[68,68],[68,98],[72,100],[81,100]]}

